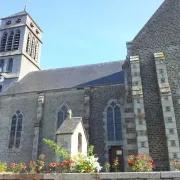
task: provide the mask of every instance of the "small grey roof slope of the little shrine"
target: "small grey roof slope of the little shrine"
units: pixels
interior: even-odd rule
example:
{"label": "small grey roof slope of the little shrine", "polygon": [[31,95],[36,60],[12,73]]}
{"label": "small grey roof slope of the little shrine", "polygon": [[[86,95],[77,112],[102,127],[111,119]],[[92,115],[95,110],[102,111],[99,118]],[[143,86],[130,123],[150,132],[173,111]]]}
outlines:
{"label": "small grey roof slope of the little shrine", "polygon": [[82,118],[69,118],[66,119],[59,129],[56,131],[56,134],[73,134],[76,130],[78,124],[82,121]]}

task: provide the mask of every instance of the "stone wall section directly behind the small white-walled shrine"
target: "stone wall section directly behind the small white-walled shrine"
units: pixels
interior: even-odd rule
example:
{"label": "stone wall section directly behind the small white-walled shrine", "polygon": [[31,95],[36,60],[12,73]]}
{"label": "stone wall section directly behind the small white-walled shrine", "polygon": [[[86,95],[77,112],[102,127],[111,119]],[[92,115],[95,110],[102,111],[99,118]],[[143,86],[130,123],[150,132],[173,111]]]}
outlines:
{"label": "stone wall section directly behind the small white-walled shrine", "polygon": [[66,103],[73,117],[84,117],[84,90],[47,92],[44,94],[44,109],[40,128],[39,154],[47,154],[47,161],[55,161],[55,154],[43,138],[56,140],[57,117],[60,107]]}

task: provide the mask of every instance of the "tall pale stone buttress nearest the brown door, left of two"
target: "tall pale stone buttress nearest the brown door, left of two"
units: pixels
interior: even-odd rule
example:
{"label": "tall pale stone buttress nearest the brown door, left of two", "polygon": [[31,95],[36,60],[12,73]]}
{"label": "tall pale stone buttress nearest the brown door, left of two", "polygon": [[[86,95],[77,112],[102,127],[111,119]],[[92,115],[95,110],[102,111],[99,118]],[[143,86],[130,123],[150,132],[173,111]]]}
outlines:
{"label": "tall pale stone buttress nearest the brown door, left of two", "polygon": [[132,97],[135,114],[138,154],[149,155],[139,56],[131,56]]}

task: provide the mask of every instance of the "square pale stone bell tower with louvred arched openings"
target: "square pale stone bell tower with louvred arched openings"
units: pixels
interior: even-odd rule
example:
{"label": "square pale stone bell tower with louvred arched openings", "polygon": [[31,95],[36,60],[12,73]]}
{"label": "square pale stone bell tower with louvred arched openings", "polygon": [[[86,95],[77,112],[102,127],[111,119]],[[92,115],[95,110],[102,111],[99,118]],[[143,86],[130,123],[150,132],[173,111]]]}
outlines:
{"label": "square pale stone bell tower with louvred arched openings", "polygon": [[0,92],[40,70],[41,40],[42,30],[26,11],[1,19]]}

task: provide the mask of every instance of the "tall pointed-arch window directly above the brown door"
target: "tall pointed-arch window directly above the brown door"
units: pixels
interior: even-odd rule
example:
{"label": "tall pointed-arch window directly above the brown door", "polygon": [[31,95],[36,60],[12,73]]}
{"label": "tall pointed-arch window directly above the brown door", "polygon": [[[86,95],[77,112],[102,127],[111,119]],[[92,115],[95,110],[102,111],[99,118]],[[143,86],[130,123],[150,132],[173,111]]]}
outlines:
{"label": "tall pointed-arch window directly above the brown door", "polygon": [[122,140],[121,109],[116,102],[111,102],[107,108],[108,141]]}

